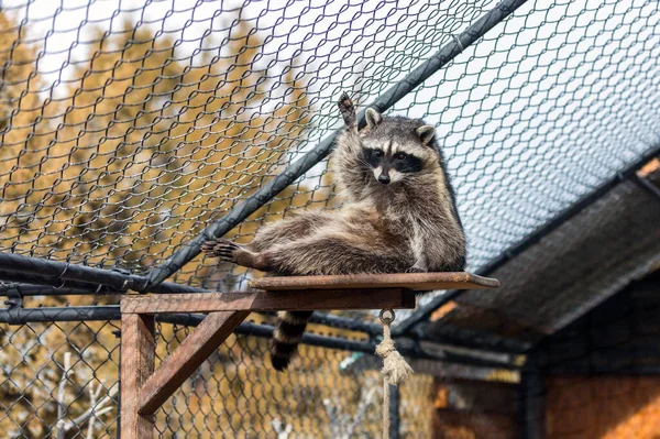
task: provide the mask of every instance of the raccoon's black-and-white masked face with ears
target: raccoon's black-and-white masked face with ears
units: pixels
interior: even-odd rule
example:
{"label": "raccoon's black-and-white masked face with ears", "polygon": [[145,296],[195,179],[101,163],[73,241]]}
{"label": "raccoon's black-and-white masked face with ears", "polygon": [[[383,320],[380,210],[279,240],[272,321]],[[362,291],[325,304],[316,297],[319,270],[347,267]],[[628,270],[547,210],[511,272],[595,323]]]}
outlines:
{"label": "raccoon's black-and-white masked face with ears", "polygon": [[429,146],[435,130],[404,119],[384,119],[373,109],[366,111],[369,129],[362,135],[363,162],[382,185],[414,177],[438,162]]}

